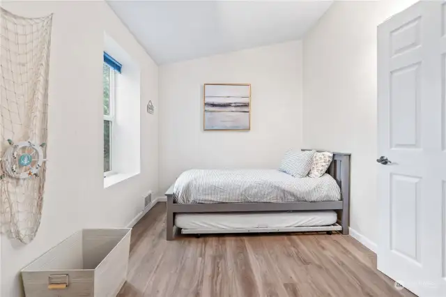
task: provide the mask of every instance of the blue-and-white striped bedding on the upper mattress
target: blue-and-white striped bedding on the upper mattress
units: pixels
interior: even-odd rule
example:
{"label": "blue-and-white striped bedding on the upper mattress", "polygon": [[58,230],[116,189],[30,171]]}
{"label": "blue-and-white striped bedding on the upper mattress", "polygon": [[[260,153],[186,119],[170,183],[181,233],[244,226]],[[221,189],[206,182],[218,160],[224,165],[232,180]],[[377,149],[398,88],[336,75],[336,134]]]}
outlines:
{"label": "blue-and-white striped bedding on the upper mattress", "polygon": [[178,204],[338,201],[334,178],[295,178],[275,169],[204,170],[183,172],[174,185]]}

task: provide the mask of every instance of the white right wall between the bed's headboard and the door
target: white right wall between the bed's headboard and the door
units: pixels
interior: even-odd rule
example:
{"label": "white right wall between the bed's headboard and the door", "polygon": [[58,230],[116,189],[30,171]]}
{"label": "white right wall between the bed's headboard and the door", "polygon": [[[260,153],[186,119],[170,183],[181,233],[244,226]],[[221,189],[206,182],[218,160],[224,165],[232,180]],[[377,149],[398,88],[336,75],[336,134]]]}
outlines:
{"label": "white right wall between the bed's headboard and the door", "polygon": [[303,40],[303,143],[352,153],[350,224],[374,242],[376,27],[415,2],[335,1]]}

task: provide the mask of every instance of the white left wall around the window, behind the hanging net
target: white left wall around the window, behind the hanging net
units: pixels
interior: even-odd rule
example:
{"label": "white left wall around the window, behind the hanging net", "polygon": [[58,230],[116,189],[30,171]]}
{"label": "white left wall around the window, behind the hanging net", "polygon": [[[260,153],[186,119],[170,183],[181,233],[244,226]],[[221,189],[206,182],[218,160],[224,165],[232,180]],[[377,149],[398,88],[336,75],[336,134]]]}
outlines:
{"label": "white left wall around the window, behind the hanging net", "polygon": [[[24,16],[54,13],[49,73],[48,170],[43,217],[35,240],[1,240],[2,296],[22,296],[18,273],[83,227],[125,227],[139,197],[157,195],[157,66],[102,1],[17,1],[3,8]],[[104,189],[102,177],[102,51],[104,32],[141,68],[141,173]]]}

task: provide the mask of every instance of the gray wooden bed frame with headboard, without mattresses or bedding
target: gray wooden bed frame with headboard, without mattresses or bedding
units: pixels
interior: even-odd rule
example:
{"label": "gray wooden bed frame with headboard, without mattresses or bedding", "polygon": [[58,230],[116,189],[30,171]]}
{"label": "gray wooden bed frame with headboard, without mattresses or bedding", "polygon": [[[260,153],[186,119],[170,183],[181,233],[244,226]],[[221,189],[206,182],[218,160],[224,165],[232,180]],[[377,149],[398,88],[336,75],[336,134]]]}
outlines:
{"label": "gray wooden bed frame with headboard, without mattresses or bedding", "polygon": [[[309,151],[304,149],[302,151]],[[176,204],[174,201],[174,185],[166,192],[167,218],[166,238],[168,241],[174,239],[176,227],[174,225],[176,213],[233,213],[233,212],[262,212],[262,211],[322,211],[334,210],[338,213],[339,228],[330,227],[301,227],[301,231],[331,231],[339,230],[342,234],[348,234],[350,221],[350,159],[349,153],[333,153],[333,162],[328,167],[330,174],[341,188],[340,201],[321,202],[270,202],[270,203],[215,203],[215,204]],[[249,231],[249,230],[247,230]],[[299,228],[289,229],[266,229],[266,231],[299,231]],[[219,233],[219,231],[189,231],[183,233]],[[222,230],[221,233],[234,233]]]}

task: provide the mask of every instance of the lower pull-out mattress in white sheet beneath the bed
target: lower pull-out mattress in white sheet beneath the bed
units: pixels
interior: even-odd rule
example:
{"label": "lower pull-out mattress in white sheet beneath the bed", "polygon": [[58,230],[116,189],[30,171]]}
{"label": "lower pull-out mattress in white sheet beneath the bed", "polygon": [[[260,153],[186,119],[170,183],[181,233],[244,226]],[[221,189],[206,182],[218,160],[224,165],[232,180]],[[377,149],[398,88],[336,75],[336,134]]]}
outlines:
{"label": "lower pull-out mattress in white sheet beneath the bed", "polygon": [[337,221],[334,211],[268,213],[178,213],[175,225],[182,229],[247,229],[329,226]]}

